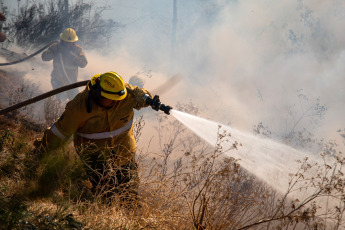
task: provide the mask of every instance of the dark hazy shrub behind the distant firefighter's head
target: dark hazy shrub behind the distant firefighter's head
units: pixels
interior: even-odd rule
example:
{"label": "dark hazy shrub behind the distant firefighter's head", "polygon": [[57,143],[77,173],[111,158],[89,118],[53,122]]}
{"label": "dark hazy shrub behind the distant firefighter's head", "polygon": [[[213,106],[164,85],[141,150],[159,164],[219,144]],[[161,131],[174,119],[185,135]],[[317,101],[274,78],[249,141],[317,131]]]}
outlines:
{"label": "dark hazy shrub behind the distant firefighter's head", "polygon": [[107,6],[95,7],[92,1],[78,0],[66,9],[64,0],[47,1],[45,4],[26,2],[17,15],[8,22],[9,36],[18,46],[42,47],[56,39],[65,28],[73,28],[86,48],[104,47],[112,33],[123,27],[111,19],[102,19]]}

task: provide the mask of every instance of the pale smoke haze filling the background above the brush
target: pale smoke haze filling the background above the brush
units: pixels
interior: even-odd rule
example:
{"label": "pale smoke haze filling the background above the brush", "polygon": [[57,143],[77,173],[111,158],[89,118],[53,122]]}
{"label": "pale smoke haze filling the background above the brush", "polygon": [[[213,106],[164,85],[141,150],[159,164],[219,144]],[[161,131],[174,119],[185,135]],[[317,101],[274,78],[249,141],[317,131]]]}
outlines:
{"label": "pale smoke haze filling the background above the brush", "polygon": [[[125,79],[150,70],[152,89],[181,73],[183,81],[161,99],[172,106],[191,100],[200,116],[247,131],[263,122],[280,135],[302,117],[296,129],[326,139],[345,128],[344,1],[177,0],[174,53],[173,1],[96,2],[109,4],[104,16],[126,27],[107,52],[86,50],[80,80],[108,70]],[[315,125],[311,119],[319,119],[308,109],[317,100],[327,111]]]}

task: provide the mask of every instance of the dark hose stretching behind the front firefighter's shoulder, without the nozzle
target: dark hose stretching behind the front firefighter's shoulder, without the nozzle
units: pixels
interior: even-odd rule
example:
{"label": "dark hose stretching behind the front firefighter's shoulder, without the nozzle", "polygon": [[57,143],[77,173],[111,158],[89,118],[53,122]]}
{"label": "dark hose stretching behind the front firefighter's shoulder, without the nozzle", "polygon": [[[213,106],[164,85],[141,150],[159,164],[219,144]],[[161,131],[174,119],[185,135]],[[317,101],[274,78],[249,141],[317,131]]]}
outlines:
{"label": "dark hose stretching behind the front firefighter's shoulder, without the nozzle", "polygon": [[76,83],[73,83],[73,84],[70,84],[70,85],[62,86],[60,88],[54,89],[52,91],[49,91],[47,93],[41,94],[41,95],[39,95],[37,97],[30,98],[30,99],[28,99],[26,101],[20,102],[18,104],[15,104],[15,105],[7,107],[7,108],[5,108],[3,110],[0,110],[0,115],[6,114],[8,112],[11,112],[13,110],[19,109],[19,108],[24,107],[24,106],[30,105],[32,103],[35,103],[35,102],[40,101],[40,100],[43,100],[43,99],[45,99],[47,97],[50,97],[50,96],[53,96],[55,94],[58,94],[58,93],[61,93],[61,92],[64,92],[64,91],[67,91],[67,90],[70,90],[70,89],[78,88],[78,87],[81,87],[81,86],[85,86],[85,85],[87,85],[87,83],[89,81],[90,80],[80,81],[80,82],[76,82]]}

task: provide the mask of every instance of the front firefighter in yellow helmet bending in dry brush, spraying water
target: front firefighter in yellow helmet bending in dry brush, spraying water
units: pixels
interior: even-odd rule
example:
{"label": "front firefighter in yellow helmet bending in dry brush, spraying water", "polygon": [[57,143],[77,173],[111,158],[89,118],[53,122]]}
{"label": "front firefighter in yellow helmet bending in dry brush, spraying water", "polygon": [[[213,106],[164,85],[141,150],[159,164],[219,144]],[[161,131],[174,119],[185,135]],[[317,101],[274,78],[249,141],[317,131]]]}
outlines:
{"label": "front firefighter in yellow helmet bending in dry brush, spraying water", "polygon": [[[61,117],[35,142],[38,153],[61,146],[74,134],[74,146],[85,163],[93,191],[106,198],[137,199],[133,109],[147,107],[143,88],[124,83],[115,72],[97,74],[68,102]],[[133,199],[134,198],[134,199]]]}

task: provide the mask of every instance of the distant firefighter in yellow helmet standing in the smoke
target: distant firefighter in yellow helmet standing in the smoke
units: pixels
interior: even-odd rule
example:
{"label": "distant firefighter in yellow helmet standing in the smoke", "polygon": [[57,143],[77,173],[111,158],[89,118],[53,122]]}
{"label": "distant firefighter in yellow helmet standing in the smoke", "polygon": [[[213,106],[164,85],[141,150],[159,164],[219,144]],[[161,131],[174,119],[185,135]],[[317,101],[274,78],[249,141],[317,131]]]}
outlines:
{"label": "distant firefighter in yellow helmet standing in the smoke", "polygon": [[[72,28],[65,29],[60,34],[60,41],[52,44],[42,53],[43,61],[53,60],[51,84],[53,89],[77,82],[78,68],[87,65],[87,59],[83,48],[76,44],[78,36]],[[58,99],[65,102],[72,100],[78,94],[78,90],[70,90],[58,95]]]}

